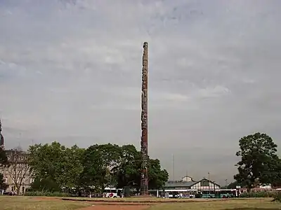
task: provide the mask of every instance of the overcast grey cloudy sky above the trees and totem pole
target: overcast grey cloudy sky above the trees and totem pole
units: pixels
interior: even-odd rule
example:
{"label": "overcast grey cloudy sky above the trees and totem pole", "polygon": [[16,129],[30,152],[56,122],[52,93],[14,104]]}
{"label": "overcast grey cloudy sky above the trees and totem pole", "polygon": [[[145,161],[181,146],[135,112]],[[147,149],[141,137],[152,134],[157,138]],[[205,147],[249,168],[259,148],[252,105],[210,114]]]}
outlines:
{"label": "overcast grey cloudy sky above the trees and totem pole", "polygon": [[240,137],[281,145],[281,1],[1,0],[6,148],[135,144],[149,43],[149,153],[233,179]]}

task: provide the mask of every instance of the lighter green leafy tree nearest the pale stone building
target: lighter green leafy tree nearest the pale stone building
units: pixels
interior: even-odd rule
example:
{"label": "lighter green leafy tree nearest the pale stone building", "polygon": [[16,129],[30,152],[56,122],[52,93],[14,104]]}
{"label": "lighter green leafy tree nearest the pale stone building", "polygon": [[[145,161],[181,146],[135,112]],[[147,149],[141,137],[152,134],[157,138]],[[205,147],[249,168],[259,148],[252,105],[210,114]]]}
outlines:
{"label": "lighter green leafy tree nearest the pale stone building", "polygon": [[83,170],[81,155],[84,149],[78,146],[66,148],[54,141],[52,144],[30,146],[29,153],[28,162],[37,188],[48,189],[46,183],[52,183],[52,189],[60,190],[77,186]]}

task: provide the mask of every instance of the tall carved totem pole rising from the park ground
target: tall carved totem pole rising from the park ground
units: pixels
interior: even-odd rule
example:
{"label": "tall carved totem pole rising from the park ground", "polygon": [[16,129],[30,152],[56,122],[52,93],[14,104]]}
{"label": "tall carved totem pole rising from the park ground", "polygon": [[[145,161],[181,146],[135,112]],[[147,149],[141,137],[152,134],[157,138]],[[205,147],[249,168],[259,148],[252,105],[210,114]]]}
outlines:
{"label": "tall carved totem pole rising from the park ground", "polygon": [[143,43],[141,86],[141,195],[148,195],[148,43]]}

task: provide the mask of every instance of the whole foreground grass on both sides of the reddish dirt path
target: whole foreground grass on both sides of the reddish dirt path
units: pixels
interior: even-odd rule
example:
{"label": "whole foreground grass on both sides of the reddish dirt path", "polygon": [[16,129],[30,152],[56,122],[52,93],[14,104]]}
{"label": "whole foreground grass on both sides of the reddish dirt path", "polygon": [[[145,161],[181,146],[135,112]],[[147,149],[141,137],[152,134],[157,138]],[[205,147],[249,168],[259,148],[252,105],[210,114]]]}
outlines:
{"label": "whole foreground grass on both sides of the reddish dirt path", "polygon": [[[59,198],[48,200],[46,197],[0,197],[0,210],[72,210],[89,207],[92,202],[69,202]],[[281,203],[271,202],[272,199],[233,199],[233,200],[186,200],[183,203],[156,204],[148,207],[148,210],[277,210],[281,209]],[[136,201],[136,198],[126,199],[126,202]],[[169,201],[169,200],[166,200]],[[120,205],[123,202],[120,203]],[[107,206],[114,210],[115,206]],[[97,208],[98,209],[98,208]],[[129,209],[134,209],[130,206]]]}

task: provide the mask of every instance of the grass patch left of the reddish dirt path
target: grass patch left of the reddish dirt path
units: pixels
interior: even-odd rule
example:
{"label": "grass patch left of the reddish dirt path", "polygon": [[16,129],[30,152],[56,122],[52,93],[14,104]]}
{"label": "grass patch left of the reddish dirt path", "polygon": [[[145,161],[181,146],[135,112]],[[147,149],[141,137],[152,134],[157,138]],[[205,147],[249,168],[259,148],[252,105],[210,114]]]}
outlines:
{"label": "grass patch left of the reddish dirt path", "polygon": [[0,196],[0,210],[72,210],[89,205],[83,202],[36,200],[36,197]]}

